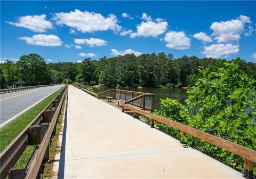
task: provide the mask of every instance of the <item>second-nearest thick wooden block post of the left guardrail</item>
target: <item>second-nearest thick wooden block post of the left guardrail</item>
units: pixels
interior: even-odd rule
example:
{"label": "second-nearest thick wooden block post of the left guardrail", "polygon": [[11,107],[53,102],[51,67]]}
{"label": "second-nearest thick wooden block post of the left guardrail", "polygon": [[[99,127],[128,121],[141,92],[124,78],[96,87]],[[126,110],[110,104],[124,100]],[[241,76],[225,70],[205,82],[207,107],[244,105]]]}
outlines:
{"label": "second-nearest thick wooden block post of the left guardrail", "polygon": [[28,128],[28,145],[38,145],[41,143],[41,126],[31,126]]}

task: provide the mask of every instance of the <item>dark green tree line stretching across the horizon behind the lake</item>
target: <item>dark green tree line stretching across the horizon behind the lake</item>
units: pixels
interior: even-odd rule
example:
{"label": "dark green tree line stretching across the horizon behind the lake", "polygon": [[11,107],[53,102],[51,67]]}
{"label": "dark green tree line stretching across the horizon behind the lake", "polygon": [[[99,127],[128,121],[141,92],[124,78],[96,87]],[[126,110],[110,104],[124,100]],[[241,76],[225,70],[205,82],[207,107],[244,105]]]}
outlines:
{"label": "dark green tree line stretching across the horizon behind the lake", "polygon": [[[38,54],[23,55],[17,63],[1,64],[1,88],[13,84],[22,86],[78,82],[102,84],[108,87],[186,87],[193,86],[200,77],[198,68],[211,71],[224,66],[227,60],[172,54],[119,55],[114,58],[84,59],[81,63],[59,62],[46,64]],[[242,60],[239,64],[247,75],[256,79],[256,64]]]}

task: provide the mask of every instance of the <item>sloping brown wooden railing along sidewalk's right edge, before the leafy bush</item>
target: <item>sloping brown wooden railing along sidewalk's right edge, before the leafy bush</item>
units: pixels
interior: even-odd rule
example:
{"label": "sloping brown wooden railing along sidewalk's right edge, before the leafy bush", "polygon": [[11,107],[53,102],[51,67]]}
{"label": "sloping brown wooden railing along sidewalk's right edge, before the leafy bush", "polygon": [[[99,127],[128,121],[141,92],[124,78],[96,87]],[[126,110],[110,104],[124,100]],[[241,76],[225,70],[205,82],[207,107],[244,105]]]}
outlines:
{"label": "sloping brown wooden railing along sidewalk's right edge, before the leafy bush", "polygon": [[181,123],[177,123],[173,120],[166,119],[161,116],[154,115],[154,113],[141,110],[139,108],[133,107],[131,104],[123,103],[123,108],[129,109],[134,112],[134,117],[139,113],[142,116],[150,118],[150,126],[154,127],[154,121],[158,121],[159,123],[165,124],[167,126],[178,129],[182,133],[186,133],[192,136],[197,137],[198,139],[209,142],[221,149],[225,149],[229,152],[235,153],[240,157],[244,158],[244,177],[252,178],[253,176],[253,162],[256,162],[256,151],[243,147],[242,145],[238,145],[236,143],[221,139],[220,137],[199,131],[198,129],[183,125]]}

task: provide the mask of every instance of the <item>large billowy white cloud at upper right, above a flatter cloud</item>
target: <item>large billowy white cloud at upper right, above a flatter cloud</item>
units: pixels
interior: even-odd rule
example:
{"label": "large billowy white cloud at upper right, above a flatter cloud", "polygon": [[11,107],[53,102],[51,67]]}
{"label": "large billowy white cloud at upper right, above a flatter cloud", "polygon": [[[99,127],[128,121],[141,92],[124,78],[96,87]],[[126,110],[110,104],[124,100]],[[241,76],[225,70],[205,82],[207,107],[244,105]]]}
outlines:
{"label": "large billowy white cloud at upper right, above a flatter cloud", "polygon": [[251,23],[250,18],[245,15],[229,21],[213,22],[210,27],[213,30],[212,36],[218,43],[238,42],[244,31],[245,23]]}

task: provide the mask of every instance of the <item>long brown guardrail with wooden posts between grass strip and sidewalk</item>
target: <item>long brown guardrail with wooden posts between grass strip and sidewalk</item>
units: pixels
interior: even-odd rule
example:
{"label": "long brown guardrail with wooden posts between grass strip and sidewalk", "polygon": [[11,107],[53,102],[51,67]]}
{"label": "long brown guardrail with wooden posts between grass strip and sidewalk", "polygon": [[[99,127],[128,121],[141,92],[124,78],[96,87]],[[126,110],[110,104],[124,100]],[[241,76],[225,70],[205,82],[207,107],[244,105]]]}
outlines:
{"label": "long brown guardrail with wooden posts between grass strip and sidewalk", "polygon": [[[42,162],[49,159],[50,140],[68,86],[0,153],[0,178],[36,178]],[[52,108],[55,107],[55,110]],[[48,124],[43,124],[48,123]],[[28,145],[37,145],[26,168],[11,169]]]}

